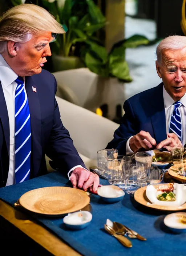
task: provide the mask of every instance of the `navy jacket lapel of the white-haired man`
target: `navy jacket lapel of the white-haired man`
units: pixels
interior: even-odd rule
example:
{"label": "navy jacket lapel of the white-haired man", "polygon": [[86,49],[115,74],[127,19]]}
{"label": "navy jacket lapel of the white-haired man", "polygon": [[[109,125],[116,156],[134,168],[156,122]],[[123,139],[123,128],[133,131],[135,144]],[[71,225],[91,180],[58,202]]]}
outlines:
{"label": "navy jacket lapel of the white-haired man", "polygon": [[155,88],[153,98],[151,99],[152,114],[151,122],[154,130],[155,140],[160,143],[167,138],[165,107],[163,101],[163,83]]}

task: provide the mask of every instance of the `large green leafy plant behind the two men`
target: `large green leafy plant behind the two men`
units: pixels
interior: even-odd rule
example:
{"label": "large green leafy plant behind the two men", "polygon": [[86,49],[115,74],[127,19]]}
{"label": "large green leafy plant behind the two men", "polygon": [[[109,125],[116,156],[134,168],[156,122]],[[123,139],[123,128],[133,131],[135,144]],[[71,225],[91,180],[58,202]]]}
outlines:
{"label": "large green leafy plant behind the two men", "polygon": [[[24,0],[11,0],[20,4]],[[106,25],[106,19],[93,0],[40,0],[56,20],[68,28],[58,35],[52,52],[64,57],[78,56],[90,71],[103,77],[117,77],[130,82],[125,49],[151,43],[146,37],[134,35],[113,45],[108,53],[96,32]]]}

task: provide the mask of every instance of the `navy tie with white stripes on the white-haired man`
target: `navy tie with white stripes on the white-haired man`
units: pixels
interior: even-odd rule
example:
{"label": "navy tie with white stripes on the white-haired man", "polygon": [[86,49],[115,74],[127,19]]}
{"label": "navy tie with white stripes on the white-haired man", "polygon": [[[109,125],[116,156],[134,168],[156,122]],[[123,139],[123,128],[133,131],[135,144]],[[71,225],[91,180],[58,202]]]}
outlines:
{"label": "navy tie with white stripes on the white-haired man", "polygon": [[174,110],[171,115],[170,119],[170,129],[169,132],[174,132],[178,138],[182,139],[182,122],[181,122],[181,115],[179,113],[179,107],[181,107],[181,102],[176,101],[174,103]]}

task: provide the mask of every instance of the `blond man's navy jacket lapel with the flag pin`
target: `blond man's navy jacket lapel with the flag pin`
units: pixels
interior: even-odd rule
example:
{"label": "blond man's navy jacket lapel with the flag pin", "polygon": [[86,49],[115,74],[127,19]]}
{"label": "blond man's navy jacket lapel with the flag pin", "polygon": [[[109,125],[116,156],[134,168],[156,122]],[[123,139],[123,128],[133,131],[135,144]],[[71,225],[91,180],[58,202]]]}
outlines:
{"label": "blond man's navy jacket lapel with the flag pin", "polygon": [[[25,87],[28,96],[28,104],[31,115],[31,132],[32,132],[32,153],[31,153],[31,168],[33,176],[35,177],[40,168],[40,161],[42,155],[41,148],[41,108],[39,102],[39,94],[36,84],[33,82],[32,76],[25,79]],[[33,88],[36,92],[33,92]]]}

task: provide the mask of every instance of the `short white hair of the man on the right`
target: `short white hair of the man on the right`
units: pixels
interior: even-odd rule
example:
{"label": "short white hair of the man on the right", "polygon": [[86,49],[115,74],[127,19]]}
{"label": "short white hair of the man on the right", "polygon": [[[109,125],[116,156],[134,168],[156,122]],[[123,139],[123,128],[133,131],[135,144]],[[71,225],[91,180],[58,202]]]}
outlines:
{"label": "short white hair of the man on the right", "polygon": [[162,51],[165,49],[182,50],[186,48],[186,36],[168,36],[164,38],[156,49],[158,63],[161,63]]}

